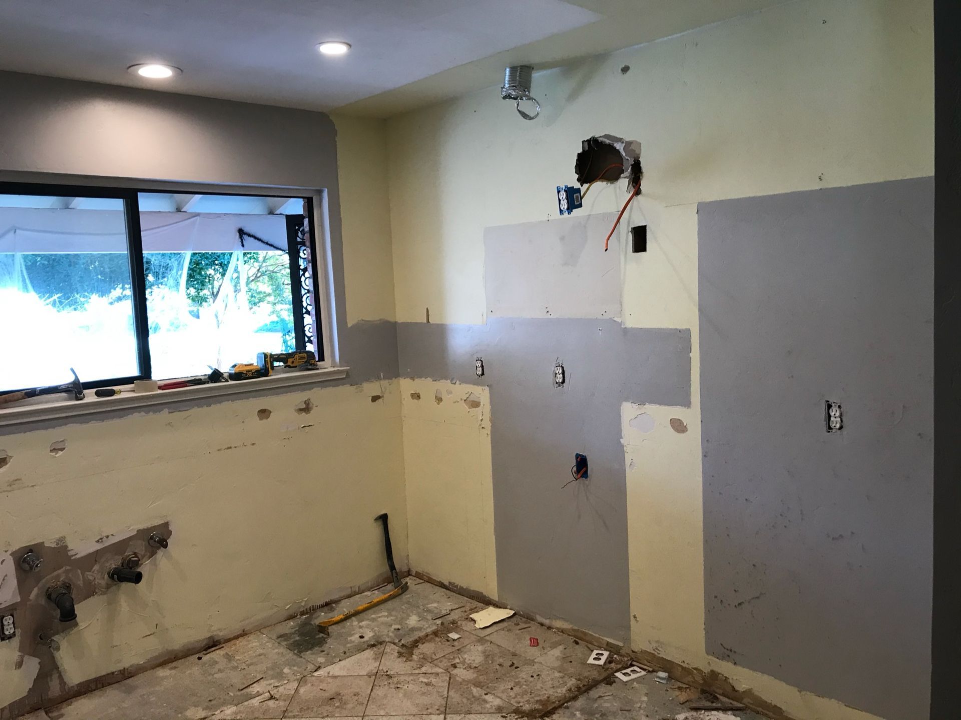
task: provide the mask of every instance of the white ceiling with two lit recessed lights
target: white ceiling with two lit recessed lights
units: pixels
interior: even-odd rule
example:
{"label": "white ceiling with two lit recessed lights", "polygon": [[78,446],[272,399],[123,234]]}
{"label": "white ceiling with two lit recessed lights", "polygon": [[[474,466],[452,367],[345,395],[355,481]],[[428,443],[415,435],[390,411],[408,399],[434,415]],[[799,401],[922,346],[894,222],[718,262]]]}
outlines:
{"label": "white ceiling with two lit recessed lights", "polygon": [[[0,69],[385,116],[785,0],[0,0]],[[316,44],[353,44],[344,57]],[[166,62],[184,74],[127,72]]]}

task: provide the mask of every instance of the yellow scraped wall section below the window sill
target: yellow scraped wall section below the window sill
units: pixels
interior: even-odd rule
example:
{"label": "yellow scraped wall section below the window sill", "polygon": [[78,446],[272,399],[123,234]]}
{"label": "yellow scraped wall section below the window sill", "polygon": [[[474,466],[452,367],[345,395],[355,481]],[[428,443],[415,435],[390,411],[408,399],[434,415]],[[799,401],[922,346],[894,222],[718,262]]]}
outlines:
{"label": "yellow scraped wall section below the window sill", "polygon": [[[58,638],[64,676],[76,683],[169,657],[373,580],[386,571],[373,520],[382,511],[406,566],[397,385],[315,387],[0,437],[12,456],[0,471],[3,551],[60,536],[77,547],[170,522],[170,547],[143,565],[143,583],[78,605],[78,625]],[[384,397],[374,403],[374,394]],[[313,410],[296,412],[308,398]],[[60,439],[66,450],[55,457]],[[12,699],[5,692],[0,707]]]}

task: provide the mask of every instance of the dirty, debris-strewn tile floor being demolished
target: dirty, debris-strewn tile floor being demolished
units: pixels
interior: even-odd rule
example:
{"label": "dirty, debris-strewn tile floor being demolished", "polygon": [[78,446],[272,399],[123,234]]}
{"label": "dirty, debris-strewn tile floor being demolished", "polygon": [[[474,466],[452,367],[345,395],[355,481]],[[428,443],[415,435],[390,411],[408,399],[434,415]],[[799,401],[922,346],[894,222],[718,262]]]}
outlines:
{"label": "dirty, debris-strewn tile floor being demolished", "polygon": [[[628,658],[519,617],[478,630],[481,606],[408,579],[406,594],[340,625],[315,623],[380,594],[251,633],[29,716],[30,720],[760,720],[653,674],[622,683]],[[452,637],[451,634],[459,635]],[[536,643],[531,640],[536,638]],[[629,714],[626,714],[629,713]]]}

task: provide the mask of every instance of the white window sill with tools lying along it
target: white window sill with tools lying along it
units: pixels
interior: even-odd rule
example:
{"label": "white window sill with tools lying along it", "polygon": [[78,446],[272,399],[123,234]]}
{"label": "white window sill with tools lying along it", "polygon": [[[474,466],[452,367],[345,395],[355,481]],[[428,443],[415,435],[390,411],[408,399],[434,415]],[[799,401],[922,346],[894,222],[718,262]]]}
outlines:
{"label": "white window sill with tools lying along it", "polygon": [[[315,385],[325,381],[340,380],[347,377],[347,367],[322,367],[317,370],[292,370],[277,372],[269,378],[211,383],[209,385],[190,385],[172,390],[157,392],[134,392],[133,385],[123,387],[123,392],[109,398],[98,398],[93,390],[86,390],[84,400],[64,400],[49,402],[45,396],[42,401],[24,401],[22,405],[12,405],[0,410],[0,427],[27,425],[44,420],[65,419],[67,421],[85,415],[96,415],[115,410],[147,408],[151,406],[173,405],[190,400],[223,398],[234,400],[237,396],[264,390],[283,391],[288,387]],[[44,402],[46,401],[46,402]]]}

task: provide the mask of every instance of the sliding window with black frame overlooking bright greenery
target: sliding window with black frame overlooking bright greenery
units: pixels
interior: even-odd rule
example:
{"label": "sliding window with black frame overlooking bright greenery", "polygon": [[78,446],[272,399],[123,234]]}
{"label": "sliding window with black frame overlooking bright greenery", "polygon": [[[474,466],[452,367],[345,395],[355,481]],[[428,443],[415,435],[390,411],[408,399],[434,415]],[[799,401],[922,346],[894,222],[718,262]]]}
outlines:
{"label": "sliding window with black frame overlooking bright greenery", "polygon": [[[0,391],[323,360],[307,197],[0,184]],[[316,329],[316,332],[315,332]]]}

